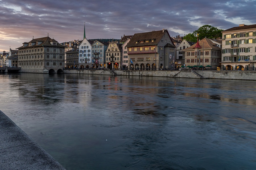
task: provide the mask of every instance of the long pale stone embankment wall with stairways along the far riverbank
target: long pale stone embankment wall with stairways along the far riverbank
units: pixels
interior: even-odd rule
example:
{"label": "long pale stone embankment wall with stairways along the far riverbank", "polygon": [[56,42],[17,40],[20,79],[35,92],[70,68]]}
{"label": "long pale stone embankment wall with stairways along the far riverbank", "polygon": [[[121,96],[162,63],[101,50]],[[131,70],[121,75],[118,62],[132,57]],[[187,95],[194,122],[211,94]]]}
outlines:
{"label": "long pale stone embankment wall with stairways along the far riverbank", "polygon": [[129,70],[64,70],[64,73],[72,74],[95,74],[95,75],[123,75],[123,76],[158,76],[175,78],[215,78],[235,80],[256,80],[256,71],[129,71]]}

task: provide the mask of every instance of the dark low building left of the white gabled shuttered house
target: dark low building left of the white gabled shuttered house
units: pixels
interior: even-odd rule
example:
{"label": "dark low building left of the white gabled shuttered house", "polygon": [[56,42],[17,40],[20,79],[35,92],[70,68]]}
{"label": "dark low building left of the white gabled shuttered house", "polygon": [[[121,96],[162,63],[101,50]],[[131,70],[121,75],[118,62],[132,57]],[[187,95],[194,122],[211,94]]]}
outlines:
{"label": "dark low building left of the white gabled shuttered house", "polygon": [[65,52],[65,68],[79,67],[79,48],[74,48]]}

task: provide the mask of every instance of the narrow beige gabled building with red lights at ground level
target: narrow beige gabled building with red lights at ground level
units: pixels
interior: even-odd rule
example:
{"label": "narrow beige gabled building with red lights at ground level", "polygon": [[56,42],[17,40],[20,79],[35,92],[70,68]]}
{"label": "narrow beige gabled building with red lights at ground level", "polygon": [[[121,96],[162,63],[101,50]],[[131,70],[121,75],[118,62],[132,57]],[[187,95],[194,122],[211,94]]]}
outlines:
{"label": "narrow beige gabled building with red lights at ground level", "polygon": [[118,41],[111,41],[106,50],[106,68],[120,69],[122,62],[122,44]]}

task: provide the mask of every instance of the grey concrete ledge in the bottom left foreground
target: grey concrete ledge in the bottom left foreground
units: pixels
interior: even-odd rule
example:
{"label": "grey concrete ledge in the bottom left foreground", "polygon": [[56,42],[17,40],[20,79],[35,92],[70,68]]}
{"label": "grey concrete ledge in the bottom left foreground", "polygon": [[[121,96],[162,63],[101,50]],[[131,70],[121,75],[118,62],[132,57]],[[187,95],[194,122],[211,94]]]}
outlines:
{"label": "grey concrete ledge in the bottom left foreground", "polygon": [[0,169],[65,169],[0,111]]}

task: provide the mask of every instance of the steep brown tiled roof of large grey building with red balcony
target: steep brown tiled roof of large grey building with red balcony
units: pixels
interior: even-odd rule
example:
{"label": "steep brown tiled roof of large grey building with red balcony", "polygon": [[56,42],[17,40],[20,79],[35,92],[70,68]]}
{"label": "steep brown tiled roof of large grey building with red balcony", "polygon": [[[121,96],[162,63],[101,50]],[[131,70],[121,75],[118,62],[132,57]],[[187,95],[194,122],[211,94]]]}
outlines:
{"label": "steep brown tiled roof of large grey building with red balcony", "polygon": [[[167,32],[168,36],[170,37],[168,31],[165,29],[160,31],[151,31],[146,33],[136,33],[133,35],[131,40],[127,43],[126,47],[136,47],[136,46],[149,46],[149,45],[156,45],[158,42],[161,41],[161,38]],[[149,42],[140,43],[140,41],[149,40]],[[154,42],[150,41],[154,40]],[[171,39],[172,41],[172,39]],[[137,43],[136,43],[137,42]]]}

